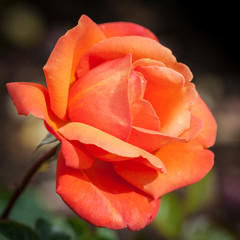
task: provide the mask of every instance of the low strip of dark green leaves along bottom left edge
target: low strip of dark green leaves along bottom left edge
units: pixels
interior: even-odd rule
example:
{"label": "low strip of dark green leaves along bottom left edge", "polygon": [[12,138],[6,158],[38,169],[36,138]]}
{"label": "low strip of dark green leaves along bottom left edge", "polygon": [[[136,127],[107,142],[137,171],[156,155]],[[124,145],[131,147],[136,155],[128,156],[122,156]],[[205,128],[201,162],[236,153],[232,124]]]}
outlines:
{"label": "low strip of dark green leaves along bottom left edge", "polygon": [[0,240],[117,240],[113,230],[96,228],[94,231],[79,218],[65,219],[64,229],[45,219],[38,219],[35,228],[16,221],[0,222]]}

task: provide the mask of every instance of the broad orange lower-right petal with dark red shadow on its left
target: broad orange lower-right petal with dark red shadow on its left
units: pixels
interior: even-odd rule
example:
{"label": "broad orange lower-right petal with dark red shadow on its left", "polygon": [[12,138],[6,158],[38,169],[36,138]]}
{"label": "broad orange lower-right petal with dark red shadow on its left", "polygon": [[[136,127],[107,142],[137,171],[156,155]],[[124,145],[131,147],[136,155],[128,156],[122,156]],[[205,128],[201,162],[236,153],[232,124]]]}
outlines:
{"label": "broad orange lower-right petal with dark red shadow on its left", "polygon": [[201,180],[212,168],[214,154],[202,146],[174,143],[161,148],[156,156],[161,158],[167,174],[133,161],[115,162],[115,171],[126,181],[155,199]]}

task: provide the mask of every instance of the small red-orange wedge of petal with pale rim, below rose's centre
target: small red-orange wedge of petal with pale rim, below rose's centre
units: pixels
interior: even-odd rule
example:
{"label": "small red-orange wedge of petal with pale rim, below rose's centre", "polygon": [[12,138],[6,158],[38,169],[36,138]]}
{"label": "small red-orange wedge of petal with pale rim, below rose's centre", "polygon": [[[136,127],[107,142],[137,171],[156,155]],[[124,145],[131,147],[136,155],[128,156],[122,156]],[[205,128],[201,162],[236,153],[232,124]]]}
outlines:
{"label": "small red-orange wedge of petal with pale rim, below rose's centre", "polygon": [[154,152],[164,145],[175,142],[186,142],[186,140],[157,131],[132,127],[128,142],[148,152]]}

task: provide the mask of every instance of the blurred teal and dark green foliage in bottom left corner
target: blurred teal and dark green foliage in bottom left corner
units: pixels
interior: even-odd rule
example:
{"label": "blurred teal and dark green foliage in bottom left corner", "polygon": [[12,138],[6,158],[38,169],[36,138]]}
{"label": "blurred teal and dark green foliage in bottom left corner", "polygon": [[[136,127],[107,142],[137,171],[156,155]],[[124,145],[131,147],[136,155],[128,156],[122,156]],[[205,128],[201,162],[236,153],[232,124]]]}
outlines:
{"label": "blurred teal and dark green foliage in bottom left corner", "polygon": [[[0,212],[9,199],[0,190]],[[0,240],[118,240],[115,231],[93,228],[78,217],[57,218],[40,202],[33,188],[27,189],[8,221],[0,221]]]}

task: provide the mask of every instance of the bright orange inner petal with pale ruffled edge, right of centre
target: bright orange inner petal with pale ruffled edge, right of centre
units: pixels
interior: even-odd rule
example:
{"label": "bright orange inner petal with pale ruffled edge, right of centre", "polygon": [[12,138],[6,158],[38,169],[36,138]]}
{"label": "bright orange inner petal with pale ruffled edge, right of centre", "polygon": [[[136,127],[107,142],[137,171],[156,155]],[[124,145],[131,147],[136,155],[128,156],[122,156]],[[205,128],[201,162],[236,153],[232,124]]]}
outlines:
{"label": "bright orange inner petal with pale ruffled edge, right of centre", "polygon": [[179,136],[190,127],[191,113],[197,92],[193,84],[185,85],[185,79],[178,72],[158,66],[140,66],[135,71],[147,80],[144,98],[156,111],[162,133]]}

